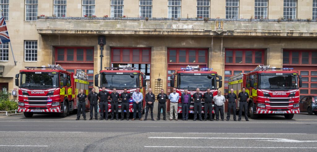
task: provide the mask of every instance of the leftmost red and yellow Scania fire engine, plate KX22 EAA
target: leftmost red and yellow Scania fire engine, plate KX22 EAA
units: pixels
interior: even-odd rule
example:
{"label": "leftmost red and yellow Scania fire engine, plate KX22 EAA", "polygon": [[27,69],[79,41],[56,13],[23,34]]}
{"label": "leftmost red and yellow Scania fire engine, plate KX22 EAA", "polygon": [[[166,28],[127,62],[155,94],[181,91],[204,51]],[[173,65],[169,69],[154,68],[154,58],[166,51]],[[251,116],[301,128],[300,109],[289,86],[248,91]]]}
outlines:
{"label": "leftmost red and yellow Scania fire engine, plate KX22 EAA", "polygon": [[[87,75],[84,72],[78,71],[74,76],[60,65],[25,68],[16,74],[15,80],[19,87],[18,111],[25,117],[42,113],[58,113],[60,117],[66,117],[77,109],[76,96],[80,89],[88,94],[89,82],[85,81]],[[89,108],[88,101],[86,108]]]}

